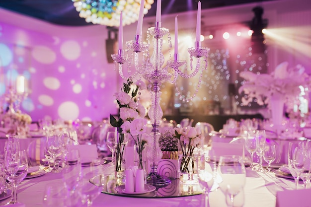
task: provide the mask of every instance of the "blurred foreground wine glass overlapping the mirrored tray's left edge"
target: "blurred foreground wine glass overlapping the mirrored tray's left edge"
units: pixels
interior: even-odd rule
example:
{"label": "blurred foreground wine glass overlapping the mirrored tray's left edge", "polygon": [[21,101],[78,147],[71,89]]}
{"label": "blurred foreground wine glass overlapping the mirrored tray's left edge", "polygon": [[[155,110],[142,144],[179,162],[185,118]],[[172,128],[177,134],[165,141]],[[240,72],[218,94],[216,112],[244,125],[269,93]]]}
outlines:
{"label": "blurred foreground wine glass overlapping the mirrored tray's left edge", "polygon": [[100,166],[90,165],[88,169],[84,169],[82,171],[82,179],[79,185],[81,186],[81,198],[82,203],[86,203],[87,207],[92,206],[93,200],[98,197],[100,192],[102,191],[102,185],[100,184],[92,184],[90,183],[90,179],[95,176],[103,174]]}

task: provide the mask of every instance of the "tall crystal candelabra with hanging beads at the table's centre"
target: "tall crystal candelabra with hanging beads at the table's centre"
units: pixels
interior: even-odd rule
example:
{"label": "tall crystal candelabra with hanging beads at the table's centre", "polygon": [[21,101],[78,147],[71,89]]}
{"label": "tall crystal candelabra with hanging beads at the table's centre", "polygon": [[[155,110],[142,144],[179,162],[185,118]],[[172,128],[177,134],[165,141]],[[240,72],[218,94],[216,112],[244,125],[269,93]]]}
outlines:
{"label": "tall crystal candelabra with hanging beads at the table's centre", "polygon": [[[121,19],[122,20],[122,19]],[[120,25],[122,25],[122,21],[120,20]],[[176,92],[180,96],[180,99],[184,102],[190,102],[195,95],[197,94],[200,84],[202,82],[202,74],[203,70],[207,69],[208,64],[208,48],[201,47],[201,42],[196,41],[195,47],[189,48],[188,52],[190,54],[190,68],[192,72],[188,74],[187,71],[187,62],[179,61],[178,54],[174,54],[174,60],[168,60],[165,67],[162,67],[164,64],[164,55],[162,53],[163,46],[163,36],[167,35],[168,39],[168,50],[169,57],[170,49],[172,47],[171,44],[171,36],[169,30],[161,27],[161,22],[156,21],[155,27],[150,27],[147,30],[147,40],[146,42],[142,42],[140,40],[140,35],[136,34],[135,39],[132,41],[127,41],[126,43],[126,55],[124,55],[124,51],[121,47],[119,47],[118,54],[113,54],[112,59],[118,66],[120,76],[127,80],[128,78],[134,78],[138,76],[139,78],[144,77],[152,84],[152,106],[149,109],[148,116],[151,120],[153,129],[152,129],[152,143],[151,147],[147,152],[147,158],[152,163],[151,164],[151,172],[147,176],[147,183],[154,186],[165,186],[171,183],[171,180],[166,176],[159,175],[157,172],[158,162],[162,158],[162,151],[159,147],[158,140],[160,137],[159,133],[159,124],[160,120],[163,116],[162,109],[160,107],[160,85],[163,82],[174,83]],[[120,26],[121,27],[121,26]],[[121,35],[121,34],[120,34]],[[152,40],[151,40],[151,37]],[[176,37],[175,37],[176,38]],[[153,43],[153,53],[150,56],[150,42]],[[122,39],[123,42],[123,39]],[[120,41],[119,41],[120,44]],[[142,54],[143,60],[139,62],[139,54]],[[193,69],[193,58],[196,58],[196,67]],[[203,61],[201,60],[203,59]],[[202,63],[201,63],[202,62]],[[135,69],[132,69],[131,63],[134,64]],[[127,66],[127,74],[123,73],[123,65]],[[179,68],[185,68],[183,70]],[[179,76],[184,78],[190,78],[196,75],[199,72],[199,82],[196,87],[196,90],[192,97],[184,98],[180,91],[178,90],[176,79]]]}

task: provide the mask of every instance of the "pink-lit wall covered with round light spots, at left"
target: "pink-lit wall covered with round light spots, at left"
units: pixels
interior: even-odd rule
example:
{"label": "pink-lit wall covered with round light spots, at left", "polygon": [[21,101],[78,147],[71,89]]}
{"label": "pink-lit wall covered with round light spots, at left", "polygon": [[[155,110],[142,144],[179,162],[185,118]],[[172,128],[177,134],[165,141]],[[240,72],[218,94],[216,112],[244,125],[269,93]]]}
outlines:
{"label": "pink-lit wall covered with round light spots, at left", "polygon": [[[23,18],[29,27],[42,24],[13,16],[14,22]],[[9,79],[7,74],[12,72],[13,81],[18,74],[26,78],[29,95],[21,110],[35,121],[45,116],[99,121],[115,114],[113,94],[118,90],[118,77],[114,65],[106,60],[107,32],[102,26],[91,27],[45,23],[37,28],[42,31],[34,31],[0,21],[0,96]],[[97,32],[90,35],[95,27]]]}

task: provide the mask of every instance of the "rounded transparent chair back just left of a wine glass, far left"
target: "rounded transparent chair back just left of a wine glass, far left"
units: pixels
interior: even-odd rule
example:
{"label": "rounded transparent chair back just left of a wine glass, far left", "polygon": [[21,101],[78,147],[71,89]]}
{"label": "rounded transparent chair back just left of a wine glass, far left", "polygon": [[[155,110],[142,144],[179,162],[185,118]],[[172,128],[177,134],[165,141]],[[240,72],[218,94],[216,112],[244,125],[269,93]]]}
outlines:
{"label": "rounded transparent chair back just left of a wine glass, far left", "polygon": [[42,160],[45,159],[46,138],[38,138],[31,141],[27,148],[28,164],[36,166],[43,164]]}

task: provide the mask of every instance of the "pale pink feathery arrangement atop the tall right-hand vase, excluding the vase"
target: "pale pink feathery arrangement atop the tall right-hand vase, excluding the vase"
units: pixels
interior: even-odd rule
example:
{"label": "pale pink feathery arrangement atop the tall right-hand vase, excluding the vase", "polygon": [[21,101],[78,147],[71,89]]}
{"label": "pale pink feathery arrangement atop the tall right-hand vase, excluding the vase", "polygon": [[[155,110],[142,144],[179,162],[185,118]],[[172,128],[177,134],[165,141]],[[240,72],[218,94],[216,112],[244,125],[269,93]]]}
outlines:
{"label": "pale pink feathery arrangement atop the tall right-hand vase, excluding the vase", "polygon": [[247,105],[254,98],[258,105],[269,104],[272,96],[292,98],[300,94],[300,85],[310,86],[310,76],[301,65],[288,69],[288,63],[281,63],[270,73],[256,74],[251,71],[243,71],[240,76],[246,81],[238,92],[244,92],[247,98],[242,97],[242,103]]}

